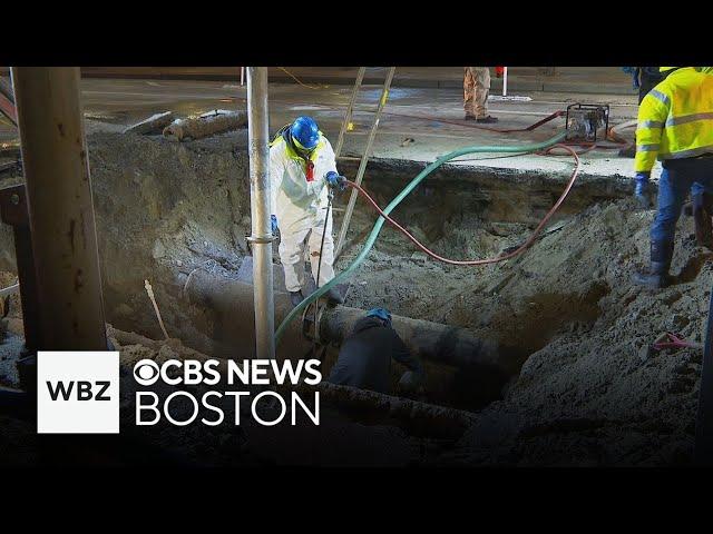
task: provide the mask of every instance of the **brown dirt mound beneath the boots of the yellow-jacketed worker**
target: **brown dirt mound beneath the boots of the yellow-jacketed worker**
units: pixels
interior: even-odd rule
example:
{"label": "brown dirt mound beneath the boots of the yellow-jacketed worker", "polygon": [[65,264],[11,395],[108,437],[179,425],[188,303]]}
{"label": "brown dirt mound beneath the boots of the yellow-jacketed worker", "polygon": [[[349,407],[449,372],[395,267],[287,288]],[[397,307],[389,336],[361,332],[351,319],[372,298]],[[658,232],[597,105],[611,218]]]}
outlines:
{"label": "brown dirt mound beneath the boots of the yellow-jacketed worker", "polygon": [[[666,330],[703,342],[712,255],[695,246],[692,220],[683,218],[677,283],[655,293],[634,286],[633,271],[647,263],[652,217],[628,200],[595,206],[501,267],[497,295],[469,291],[458,304],[453,315],[480,316],[480,330],[507,324],[512,338],[543,345],[462,439],[471,459],[486,449],[481,461],[691,459],[702,352],[649,346]],[[498,446],[487,437],[494,432]]]}

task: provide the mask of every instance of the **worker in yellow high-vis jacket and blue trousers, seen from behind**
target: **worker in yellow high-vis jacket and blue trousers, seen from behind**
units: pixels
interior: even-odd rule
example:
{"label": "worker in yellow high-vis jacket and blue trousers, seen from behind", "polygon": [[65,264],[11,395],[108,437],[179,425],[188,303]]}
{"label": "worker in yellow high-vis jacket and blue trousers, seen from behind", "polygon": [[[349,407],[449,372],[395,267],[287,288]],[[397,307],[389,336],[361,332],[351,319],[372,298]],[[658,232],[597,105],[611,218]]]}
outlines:
{"label": "worker in yellow high-vis jacket and blue trousers, seen from behind", "polygon": [[[676,222],[688,191],[694,214],[710,216],[713,194],[713,76],[696,67],[661,67],[666,78],[642,100],[636,128],[635,195],[648,205],[651,170],[661,160],[657,211],[651,228],[651,266],[638,284],[665,287],[673,257]],[[707,197],[707,198],[706,198]],[[706,208],[707,204],[707,209]],[[706,214],[707,211],[707,214]]]}

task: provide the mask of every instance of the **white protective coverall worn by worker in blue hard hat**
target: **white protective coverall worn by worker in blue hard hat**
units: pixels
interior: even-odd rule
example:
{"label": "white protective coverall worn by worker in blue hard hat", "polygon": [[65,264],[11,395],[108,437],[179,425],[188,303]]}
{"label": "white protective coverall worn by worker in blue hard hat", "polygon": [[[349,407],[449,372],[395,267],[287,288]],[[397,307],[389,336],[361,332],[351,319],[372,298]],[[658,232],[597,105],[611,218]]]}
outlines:
{"label": "white protective coverall worn by worker in blue hard hat", "polygon": [[318,146],[310,154],[310,162],[282,136],[270,147],[272,214],[276,216],[280,227],[280,260],[289,291],[299,291],[304,286],[304,241],[307,237],[312,275],[316,280],[325,224],[326,235],[318,285],[321,287],[334,278],[331,212],[329,220],[325,220],[329,187],[324,177],[330,171],[336,172],[334,150],[321,132]]}

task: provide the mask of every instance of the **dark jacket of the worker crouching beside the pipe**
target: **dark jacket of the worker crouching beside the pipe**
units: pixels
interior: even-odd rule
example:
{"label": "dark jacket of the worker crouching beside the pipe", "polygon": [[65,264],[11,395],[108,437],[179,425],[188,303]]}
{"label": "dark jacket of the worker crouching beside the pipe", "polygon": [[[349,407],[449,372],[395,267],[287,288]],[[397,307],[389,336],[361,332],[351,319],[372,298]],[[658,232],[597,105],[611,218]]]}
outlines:
{"label": "dark jacket of the worker crouching beside the pipe", "polygon": [[389,393],[392,358],[423,375],[421,363],[393,328],[375,317],[364,317],[356,322],[352,335],[342,344],[328,382]]}

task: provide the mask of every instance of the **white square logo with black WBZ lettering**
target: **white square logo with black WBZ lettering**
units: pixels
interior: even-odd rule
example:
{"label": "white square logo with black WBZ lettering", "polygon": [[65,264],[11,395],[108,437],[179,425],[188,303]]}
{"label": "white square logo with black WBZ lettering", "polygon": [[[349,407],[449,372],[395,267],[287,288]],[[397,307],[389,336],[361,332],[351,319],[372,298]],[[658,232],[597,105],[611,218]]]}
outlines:
{"label": "white square logo with black WBZ lettering", "polygon": [[119,353],[39,352],[39,434],[118,434]]}

